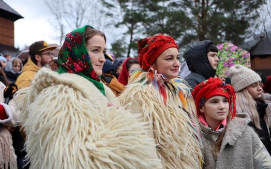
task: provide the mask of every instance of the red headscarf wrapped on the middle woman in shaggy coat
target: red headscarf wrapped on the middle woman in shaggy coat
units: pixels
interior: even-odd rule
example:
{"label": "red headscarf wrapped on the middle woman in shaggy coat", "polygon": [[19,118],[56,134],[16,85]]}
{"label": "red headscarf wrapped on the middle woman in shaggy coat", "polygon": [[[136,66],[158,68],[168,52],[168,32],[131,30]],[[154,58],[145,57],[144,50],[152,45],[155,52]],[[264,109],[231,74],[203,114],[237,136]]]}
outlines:
{"label": "red headscarf wrapped on the middle woman in shaggy coat", "polygon": [[175,47],[178,49],[177,43],[171,36],[154,35],[137,41],[139,65],[145,71],[148,71],[151,64],[160,56],[166,49]]}

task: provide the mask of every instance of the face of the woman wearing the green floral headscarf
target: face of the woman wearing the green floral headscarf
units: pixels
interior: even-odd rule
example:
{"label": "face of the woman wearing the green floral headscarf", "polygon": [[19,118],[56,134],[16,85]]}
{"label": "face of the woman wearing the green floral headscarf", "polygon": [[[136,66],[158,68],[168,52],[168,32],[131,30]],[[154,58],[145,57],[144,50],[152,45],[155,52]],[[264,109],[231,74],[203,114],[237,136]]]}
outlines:
{"label": "face of the woman wearing the green floral headscarf", "polygon": [[93,70],[98,76],[103,74],[105,63],[105,39],[101,35],[94,35],[87,41],[87,49]]}

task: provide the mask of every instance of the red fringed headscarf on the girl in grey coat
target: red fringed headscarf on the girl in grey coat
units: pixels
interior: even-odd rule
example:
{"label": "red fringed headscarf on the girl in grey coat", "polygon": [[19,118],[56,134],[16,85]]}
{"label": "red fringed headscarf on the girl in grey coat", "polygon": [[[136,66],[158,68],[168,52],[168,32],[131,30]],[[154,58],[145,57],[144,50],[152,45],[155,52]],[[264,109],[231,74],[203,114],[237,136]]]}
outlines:
{"label": "red fringed headscarf on the girl in grey coat", "polygon": [[196,102],[196,113],[198,116],[201,115],[199,109],[204,105],[204,103],[213,96],[224,96],[229,103],[229,111],[232,113],[231,119],[236,115],[235,107],[235,91],[234,88],[225,84],[219,78],[210,78],[197,84],[192,91],[193,98]]}

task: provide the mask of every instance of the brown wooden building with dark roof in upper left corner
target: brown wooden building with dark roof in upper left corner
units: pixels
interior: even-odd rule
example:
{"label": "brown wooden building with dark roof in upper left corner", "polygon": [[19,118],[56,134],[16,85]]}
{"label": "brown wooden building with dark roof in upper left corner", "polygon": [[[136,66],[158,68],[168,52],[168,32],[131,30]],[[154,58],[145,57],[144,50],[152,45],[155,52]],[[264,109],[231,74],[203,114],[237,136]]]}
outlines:
{"label": "brown wooden building with dark roof in upper left corner", "polygon": [[3,0],[0,0],[0,55],[14,56],[18,49],[14,47],[14,22],[23,18]]}

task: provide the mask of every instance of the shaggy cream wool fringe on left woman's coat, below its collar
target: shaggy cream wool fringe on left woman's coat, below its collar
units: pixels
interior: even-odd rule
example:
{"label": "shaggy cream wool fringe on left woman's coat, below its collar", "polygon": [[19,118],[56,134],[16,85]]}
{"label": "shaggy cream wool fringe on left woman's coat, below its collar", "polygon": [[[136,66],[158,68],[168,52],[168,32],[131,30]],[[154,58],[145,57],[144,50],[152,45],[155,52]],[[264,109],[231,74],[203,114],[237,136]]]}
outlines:
{"label": "shaggy cream wool fringe on left woman's coat, below its collar", "polygon": [[148,169],[146,123],[122,107],[101,112],[81,92],[57,84],[15,95],[32,169]]}

